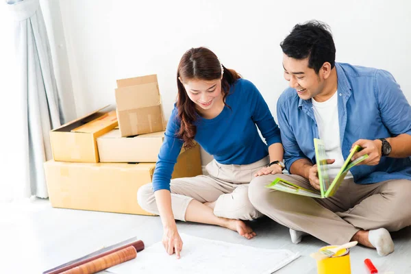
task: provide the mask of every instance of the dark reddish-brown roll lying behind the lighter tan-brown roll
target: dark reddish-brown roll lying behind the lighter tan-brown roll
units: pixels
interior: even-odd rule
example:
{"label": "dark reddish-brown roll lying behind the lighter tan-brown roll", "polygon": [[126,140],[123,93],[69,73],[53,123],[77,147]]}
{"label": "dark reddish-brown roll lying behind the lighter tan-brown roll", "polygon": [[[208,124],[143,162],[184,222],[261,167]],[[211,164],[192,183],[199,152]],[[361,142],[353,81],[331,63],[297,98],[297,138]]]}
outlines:
{"label": "dark reddish-brown roll lying behind the lighter tan-brown roll", "polygon": [[125,247],[131,247],[133,246],[137,252],[140,252],[144,249],[144,242],[142,240],[137,240],[136,237],[134,238],[129,238],[128,240],[124,240],[123,242],[119,242],[116,245],[111,245],[110,247],[105,247],[101,250],[95,251],[93,253],[90,253],[82,258],[78,258],[76,260],[72,260],[70,262],[67,262],[66,264],[62,264],[60,266],[57,266],[53,269],[49,269],[48,271],[43,272],[42,274],[60,274],[63,273],[64,271],[67,271],[69,269],[73,269],[75,266],[79,266],[80,264],[85,264],[86,262],[90,262],[92,260],[101,258],[103,256],[106,256],[110,253],[119,251],[120,249],[124,249]]}

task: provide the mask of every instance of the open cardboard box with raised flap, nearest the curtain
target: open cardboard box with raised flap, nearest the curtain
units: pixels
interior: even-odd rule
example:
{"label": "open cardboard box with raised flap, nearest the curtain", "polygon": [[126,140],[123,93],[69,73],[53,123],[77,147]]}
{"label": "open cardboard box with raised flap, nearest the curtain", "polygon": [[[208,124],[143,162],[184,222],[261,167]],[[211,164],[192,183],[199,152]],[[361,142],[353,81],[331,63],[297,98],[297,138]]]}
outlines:
{"label": "open cardboard box with raised flap, nearest the curtain", "polygon": [[50,132],[55,161],[99,162],[96,138],[119,125],[114,106],[91,112]]}

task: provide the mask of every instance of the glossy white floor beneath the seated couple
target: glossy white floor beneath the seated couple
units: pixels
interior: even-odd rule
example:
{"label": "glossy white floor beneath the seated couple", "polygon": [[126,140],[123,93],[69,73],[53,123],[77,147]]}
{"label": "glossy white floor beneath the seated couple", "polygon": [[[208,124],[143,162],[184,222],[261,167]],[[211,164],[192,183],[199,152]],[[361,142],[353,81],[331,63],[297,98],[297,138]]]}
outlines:
{"label": "glossy white floor beneath the seated couple", "polygon": [[[57,209],[43,199],[0,204],[0,216],[0,273],[41,273],[133,236],[143,240],[146,246],[162,237],[162,225],[157,216]],[[270,219],[251,223],[257,233],[252,240],[212,225],[177,224],[180,232],[193,236],[301,253],[300,258],[276,272],[279,274],[315,274],[316,263],[309,254],[325,245],[311,236],[293,245],[288,229]],[[368,273],[363,263],[366,258],[373,261],[378,273],[411,273],[411,227],[393,233],[393,238],[395,252],[384,258],[373,249],[351,249],[352,273]]]}

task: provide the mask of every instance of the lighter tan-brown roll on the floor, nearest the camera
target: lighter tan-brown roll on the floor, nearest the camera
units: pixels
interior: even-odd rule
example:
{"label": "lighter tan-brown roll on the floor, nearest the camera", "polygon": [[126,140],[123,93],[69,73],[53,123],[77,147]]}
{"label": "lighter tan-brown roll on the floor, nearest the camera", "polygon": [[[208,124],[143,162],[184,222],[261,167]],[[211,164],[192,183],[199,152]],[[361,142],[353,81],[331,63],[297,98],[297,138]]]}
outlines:
{"label": "lighter tan-brown roll on the floor, nearest the camera", "polygon": [[62,274],[93,274],[104,269],[108,269],[111,266],[121,264],[122,262],[127,262],[136,258],[137,251],[133,246],[126,247],[125,249],[120,249],[114,253],[110,253],[101,258],[86,262],[85,264],[80,264],[75,266],[73,269],[62,272]]}

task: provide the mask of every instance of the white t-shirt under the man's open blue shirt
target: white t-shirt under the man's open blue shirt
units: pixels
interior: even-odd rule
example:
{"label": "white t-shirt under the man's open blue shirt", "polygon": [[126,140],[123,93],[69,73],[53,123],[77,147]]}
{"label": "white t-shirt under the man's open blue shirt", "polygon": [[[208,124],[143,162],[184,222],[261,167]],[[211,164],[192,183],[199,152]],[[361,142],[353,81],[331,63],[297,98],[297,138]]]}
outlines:
{"label": "white t-shirt under the man's open blue shirt", "polygon": [[[337,90],[338,91],[338,90]],[[344,164],[343,151],[340,145],[340,125],[338,123],[338,92],[324,102],[311,99],[312,110],[319,129],[320,139],[325,145],[328,159],[335,159],[334,164],[329,164],[329,177],[334,179]],[[345,179],[352,178],[348,172]]]}

